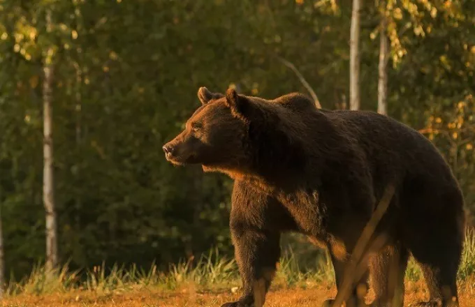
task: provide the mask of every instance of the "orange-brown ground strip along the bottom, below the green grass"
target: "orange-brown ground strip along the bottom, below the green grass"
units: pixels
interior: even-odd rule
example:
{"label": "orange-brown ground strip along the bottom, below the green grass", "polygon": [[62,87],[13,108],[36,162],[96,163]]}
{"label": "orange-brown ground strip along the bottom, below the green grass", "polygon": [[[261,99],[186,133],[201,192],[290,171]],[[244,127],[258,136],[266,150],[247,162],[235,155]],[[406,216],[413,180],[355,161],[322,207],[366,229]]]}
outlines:
{"label": "orange-brown ground strip along the bottom, below the green grass", "polygon": [[[411,306],[416,301],[427,299],[424,285],[412,283],[406,286],[404,306]],[[239,297],[239,292],[231,291],[196,292],[183,289],[178,292],[160,292],[143,289],[128,292],[96,293],[68,292],[64,294],[47,294],[43,296],[20,295],[8,297],[1,301],[3,307],[214,307]],[[311,289],[272,290],[267,297],[265,307],[316,307],[323,301],[335,297],[335,287],[312,287]],[[368,295],[368,302],[372,295]],[[460,307],[475,307],[475,288],[460,289]]]}

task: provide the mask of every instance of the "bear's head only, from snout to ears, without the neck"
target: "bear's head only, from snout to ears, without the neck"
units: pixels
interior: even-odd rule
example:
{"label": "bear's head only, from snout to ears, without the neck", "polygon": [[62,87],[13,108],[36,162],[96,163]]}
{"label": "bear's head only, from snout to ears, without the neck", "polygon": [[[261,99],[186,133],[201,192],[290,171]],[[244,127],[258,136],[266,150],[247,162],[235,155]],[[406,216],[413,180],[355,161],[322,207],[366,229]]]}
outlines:
{"label": "bear's head only, from snout to ears, without the neck", "polygon": [[240,110],[246,98],[234,89],[225,96],[205,87],[198,90],[198,98],[201,105],[182,133],[163,146],[166,159],[175,165],[201,164],[205,170],[242,163],[247,122]]}

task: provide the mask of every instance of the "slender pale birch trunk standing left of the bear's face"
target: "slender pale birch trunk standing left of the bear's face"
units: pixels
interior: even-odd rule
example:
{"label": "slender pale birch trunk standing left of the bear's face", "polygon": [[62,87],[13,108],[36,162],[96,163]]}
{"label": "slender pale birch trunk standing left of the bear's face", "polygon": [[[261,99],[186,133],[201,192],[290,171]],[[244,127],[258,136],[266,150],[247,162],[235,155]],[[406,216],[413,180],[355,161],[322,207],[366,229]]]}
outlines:
{"label": "slender pale birch trunk standing left of the bear's face", "polygon": [[[47,52],[51,54],[51,52]],[[47,55],[43,67],[43,204],[46,214],[46,263],[50,271],[57,265],[57,227],[53,191],[53,139],[52,139],[52,59]]]}

